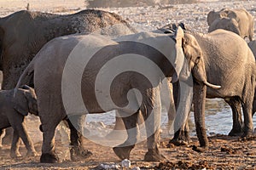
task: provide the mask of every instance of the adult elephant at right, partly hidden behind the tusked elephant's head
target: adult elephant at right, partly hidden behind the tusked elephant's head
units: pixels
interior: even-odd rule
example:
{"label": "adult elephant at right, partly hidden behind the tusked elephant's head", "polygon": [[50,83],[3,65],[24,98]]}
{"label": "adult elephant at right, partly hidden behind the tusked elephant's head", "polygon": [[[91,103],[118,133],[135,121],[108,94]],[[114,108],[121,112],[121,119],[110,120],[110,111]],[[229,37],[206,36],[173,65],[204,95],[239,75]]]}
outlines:
{"label": "adult elephant at right, partly hidden behind the tusked elephant's head", "polygon": [[[242,124],[241,121],[237,120],[241,120],[241,113],[239,114],[239,111],[242,106],[245,122],[242,136],[250,135],[253,133],[252,94],[254,94],[256,71],[252,51],[241,37],[233,32],[224,30],[216,30],[208,34],[186,31],[183,39],[183,50],[189,51],[195,42],[199,44],[199,51],[201,51],[201,55],[204,58],[207,81],[222,87],[219,89],[207,88],[207,98],[222,98],[231,106],[234,124],[230,135],[241,134]],[[186,53],[184,54],[186,55]],[[178,87],[174,87],[176,87],[174,91],[177,91]],[[177,100],[177,97],[175,99]],[[198,113],[200,108],[197,108],[198,104],[195,101],[194,104],[196,132],[199,133],[197,123],[200,118]],[[204,120],[204,117],[202,119]],[[176,129],[171,142],[189,142],[188,127],[187,122],[183,124],[181,129]],[[207,150],[206,133],[200,134],[199,140],[201,148],[195,148],[195,150]]]}

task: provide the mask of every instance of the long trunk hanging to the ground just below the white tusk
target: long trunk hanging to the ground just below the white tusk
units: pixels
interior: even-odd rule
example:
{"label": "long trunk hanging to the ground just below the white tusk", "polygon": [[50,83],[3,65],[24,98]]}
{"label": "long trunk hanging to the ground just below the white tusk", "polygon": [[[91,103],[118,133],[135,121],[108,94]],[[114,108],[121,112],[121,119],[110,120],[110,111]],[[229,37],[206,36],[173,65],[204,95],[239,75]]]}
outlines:
{"label": "long trunk hanging to the ground just below the white tusk", "polygon": [[208,149],[207,131],[205,125],[205,106],[207,87],[198,83],[193,86],[193,101],[195,111],[195,130],[197,138],[199,139],[200,147],[194,146],[193,150],[203,152]]}

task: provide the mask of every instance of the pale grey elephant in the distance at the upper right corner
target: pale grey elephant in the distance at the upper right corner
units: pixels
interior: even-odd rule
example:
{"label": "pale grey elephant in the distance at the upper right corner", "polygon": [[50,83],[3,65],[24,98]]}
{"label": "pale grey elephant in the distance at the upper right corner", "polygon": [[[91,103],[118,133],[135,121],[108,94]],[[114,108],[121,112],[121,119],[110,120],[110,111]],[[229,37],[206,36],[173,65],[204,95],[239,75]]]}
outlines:
{"label": "pale grey elephant in the distance at the upper right corner", "polygon": [[223,8],[218,12],[211,11],[207,14],[208,32],[224,29],[233,31],[242,38],[253,40],[254,20],[244,8]]}

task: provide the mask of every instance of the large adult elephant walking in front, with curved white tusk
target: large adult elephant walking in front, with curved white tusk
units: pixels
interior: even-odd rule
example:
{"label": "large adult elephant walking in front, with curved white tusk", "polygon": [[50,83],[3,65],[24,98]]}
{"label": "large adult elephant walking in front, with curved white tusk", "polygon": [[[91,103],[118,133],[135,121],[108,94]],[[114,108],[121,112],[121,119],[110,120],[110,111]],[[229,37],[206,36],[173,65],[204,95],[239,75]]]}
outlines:
{"label": "large adult elephant walking in front, with curved white tusk", "polygon": [[[120,159],[130,157],[137,143],[137,114],[141,111],[148,136],[148,152],[144,160],[160,161],[163,158],[158,146],[160,88],[164,86],[165,77],[177,79],[181,74],[183,79],[187,79],[190,75],[185,70],[189,66],[183,65],[188,62],[183,62],[186,59],[182,40],[183,30],[177,29],[177,43],[168,35],[151,32],[114,40],[99,35],[71,35],[47,43],[32,59],[16,86],[25,83],[30,79],[30,73],[34,73],[38,113],[44,136],[40,161],[58,161],[54,135],[55,127],[61,120],[69,118],[72,156],[74,153],[79,156],[83,144],[75,128],[80,123],[77,114],[111,110],[119,111],[128,133],[125,143],[113,148],[116,155]],[[197,44],[194,46],[195,49],[189,51],[189,63],[195,71],[195,82],[219,88],[207,82],[201,61],[203,58],[194,55]],[[175,69],[172,65],[176,66]],[[182,67],[185,71],[182,71]],[[168,86],[169,82],[166,83]],[[189,90],[188,94],[191,93]],[[196,99],[203,100],[200,96]],[[188,96],[184,96],[184,102],[184,105],[189,103]]]}

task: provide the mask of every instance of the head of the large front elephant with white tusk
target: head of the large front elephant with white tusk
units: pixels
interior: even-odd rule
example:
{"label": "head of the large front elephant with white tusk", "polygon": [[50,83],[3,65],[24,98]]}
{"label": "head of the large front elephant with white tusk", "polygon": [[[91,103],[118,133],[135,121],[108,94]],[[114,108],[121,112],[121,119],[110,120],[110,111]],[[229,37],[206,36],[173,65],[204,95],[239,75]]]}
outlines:
{"label": "head of the large front elephant with white tusk", "polygon": [[[196,82],[201,82],[207,85],[207,87],[209,88],[220,88],[220,86],[213,85],[207,82],[207,72],[205,69],[203,54],[201,51],[201,47],[196,41],[195,37],[189,33],[183,33],[183,31],[180,30],[182,29],[177,29],[176,42],[181,43],[185,58],[189,62],[189,66],[187,68],[183,68],[182,72],[192,71],[192,75],[195,78]],[[183,76],[181,76],[181,78],[182,77]]]}

